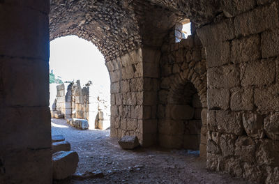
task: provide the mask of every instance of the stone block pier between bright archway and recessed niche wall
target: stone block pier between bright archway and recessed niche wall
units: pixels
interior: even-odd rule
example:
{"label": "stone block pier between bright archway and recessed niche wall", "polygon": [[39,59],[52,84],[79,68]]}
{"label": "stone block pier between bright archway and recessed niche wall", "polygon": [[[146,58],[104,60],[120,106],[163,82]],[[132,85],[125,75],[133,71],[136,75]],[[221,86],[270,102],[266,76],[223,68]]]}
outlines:
{"label": "stone block pier between bright archway and recessed niche wall", "polygon": [[111,77],[111,136],[137,135],[142,146],[156,143],[160,52],[140,48],[106,66]]}

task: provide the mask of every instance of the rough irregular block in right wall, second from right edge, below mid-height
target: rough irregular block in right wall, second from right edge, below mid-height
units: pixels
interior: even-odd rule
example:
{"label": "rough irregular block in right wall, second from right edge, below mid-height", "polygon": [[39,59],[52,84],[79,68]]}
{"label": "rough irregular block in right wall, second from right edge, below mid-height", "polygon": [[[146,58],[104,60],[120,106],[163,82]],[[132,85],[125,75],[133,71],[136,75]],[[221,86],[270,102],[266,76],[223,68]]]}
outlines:
{"label": "rough irregular block in right wall, second from right edge, below mid-height", "polygon": [[264,137],[264,118],[257,113],[243,113],[243,128],[250,137]]}

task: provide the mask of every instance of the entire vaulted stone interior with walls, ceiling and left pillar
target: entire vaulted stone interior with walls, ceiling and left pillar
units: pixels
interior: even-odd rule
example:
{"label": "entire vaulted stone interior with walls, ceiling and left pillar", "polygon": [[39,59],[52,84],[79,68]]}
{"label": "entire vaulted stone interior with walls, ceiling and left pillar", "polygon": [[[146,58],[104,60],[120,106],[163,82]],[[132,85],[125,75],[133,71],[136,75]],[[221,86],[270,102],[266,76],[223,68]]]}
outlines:
{"label": "entire vaulted stone interior with walls, ceiling and left pillar", "polygon": [[52,183],[49,42],[71,34],[105,56],[112,137],[199,147],[211,170],[279,183],[278,5],[0,0],[0,183]]}

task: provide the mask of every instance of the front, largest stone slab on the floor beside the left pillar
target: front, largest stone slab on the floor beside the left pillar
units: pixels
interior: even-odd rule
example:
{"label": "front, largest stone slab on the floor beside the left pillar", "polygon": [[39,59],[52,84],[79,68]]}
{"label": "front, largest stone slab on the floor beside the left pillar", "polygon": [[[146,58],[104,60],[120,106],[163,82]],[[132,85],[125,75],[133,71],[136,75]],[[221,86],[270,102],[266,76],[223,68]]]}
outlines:
{"label": "front, largest stone slab on the floor beside the left pillar", "polygon": [[75,151],[59,151],[52,155],[52,175],[54,180],[68,178],[75,173],[79,158]]}

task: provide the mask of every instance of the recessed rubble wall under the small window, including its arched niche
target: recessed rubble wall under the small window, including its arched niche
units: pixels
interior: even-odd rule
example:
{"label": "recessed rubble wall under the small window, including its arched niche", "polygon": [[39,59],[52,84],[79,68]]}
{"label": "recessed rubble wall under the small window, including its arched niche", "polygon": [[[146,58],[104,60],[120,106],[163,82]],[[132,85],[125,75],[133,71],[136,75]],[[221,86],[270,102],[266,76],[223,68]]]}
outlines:
{"label": "recessed rubble wall under the small window, including its arched niche", "polygon": [[200,150],[206,155],[206,56],[193,35],[174,42],[174,30],[162,47],[158,92],[158,141],[167,148]]}

